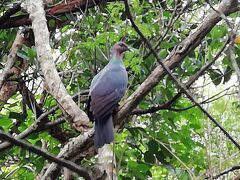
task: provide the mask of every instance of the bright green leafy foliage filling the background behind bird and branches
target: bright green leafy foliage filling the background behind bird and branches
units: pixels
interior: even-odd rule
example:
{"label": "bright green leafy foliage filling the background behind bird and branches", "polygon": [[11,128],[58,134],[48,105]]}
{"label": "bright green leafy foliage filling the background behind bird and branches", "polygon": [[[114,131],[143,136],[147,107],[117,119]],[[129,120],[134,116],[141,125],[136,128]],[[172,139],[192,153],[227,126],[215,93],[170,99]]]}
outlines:
{"label": "bright green leafy foliage filling the background behind bird and branches", "polygon": [[[193,32],[209,12],[205,1],[194,1],[181,13],[186,1],[179,2],[179,9],[174,11],[178,1],[131,1],[134,20],[151,44],[158,44],[158,54],[164,60],[174,46]],[[218,1],[213,3],[217,4]],[[3,4],[3,7],[7,4]],[[1,9],[2,14],[4,8]],[[231,15],[234,21],[237,14]],[[126,20],[122,2],[103,3],[83,13],[63,15],[69,23],[51,32],[52,53],[62,80],[69,92],[74,95],[89,88],[91,79],[106,65],[111,46],[123,36],[133,49],[125,55],[124,63],[128,69],[129,87],[123,99],[126,100],[156,67],[156,61],[148,54],[148,49],[139,39],[138,34]],[[55,22],[48,22],[54,27]],[[169,31],[166,32],[166,29]],[[15,38],[16,29],[0,31],[1,65],[4,66],[6,55]],[[165,35],[164,35],[165,34]],[[228,36],[228,26],[222,21],[201,42],[183,63],[174,70],[181,81],[185,82],[206,62],[211,61],[222,48]],[[162,39],[161,39],[162,38]],[[159,42],[159,40],[161,41]],[[240,63],[240,47],[235,47],[236,60]],[[23,46],[17,55],[29,62],[29,69],[22,74],[23,81],[40,104],[43,111],[57,105],[46,95],[40,67],[36,61],[34,46]],[[211,66],[204,78],[197,81],[191,92],[204,101],[225,89],[235,81],[229,55],[222,54]],[[15,80],[18,82],[18,79]],[[208,83],[210,82],[210,83]],[[214,84],[214,85],[213,85]],[[206,87],[214,87],[216,91]],[[215,87],[217,86],[217,87]],[[235,92],[236,88],[229,88]],[[167,76],[139,104],[138,108],[147,109],[170,100],[178,89]],[[225,95],[226,96],[226,95]],[[219,95],[217,97],[220,97]],[[204,107],[219,120],[234,136],[240,139],[239,102],[235,94],[222,97],[214,102],[206,102]],[[40,103],[41,102],[41,103]],[[79,99],[80,102],[80,99]],[[133,115],[133,120],[125,125],[124,130],[116,135],[115,154],[119,179],[203,179],[209,173],[217,174],[236,165],[238,150],[210,121],[186,98],[179,98],[172,106],[177,109],[161,110],[141,116]],[[85,102],[79,103],[84,109]],[[26,107],[24,96],[20,92],[0,107],[0,128],[5,132],[21,133],[36,120],[34,108]],[[62,115],[57,110],[49,115],[51,121]],[[67,123],[59,125],[62,131],[74,137],[75,132]],[[57,155],[63,144],[48,132],[33,133],[26,138],[36,146],[45,147]],[[219,149],[219,147],[222,147]],[[0,179],[34,179],[47,162],[35,154],[18,147],[0,153]],[[82,163],[93,165],[94,158]]]}

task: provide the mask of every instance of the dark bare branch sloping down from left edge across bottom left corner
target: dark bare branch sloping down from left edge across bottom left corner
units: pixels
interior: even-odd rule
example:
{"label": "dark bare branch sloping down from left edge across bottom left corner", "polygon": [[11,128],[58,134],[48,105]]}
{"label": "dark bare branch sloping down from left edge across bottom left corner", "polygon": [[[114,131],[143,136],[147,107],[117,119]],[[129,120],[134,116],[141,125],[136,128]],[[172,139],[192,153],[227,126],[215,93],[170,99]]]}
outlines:
{"label": "dark bare branch sloping down from left edge across bottom left corner", "polygon": [[33,145],[26,143],[22,140],[14,139],[13,137],[2,132],[1,130],[0,130],[0,139],[3,141],[8,141],[16,146],[23,148],[23,149],[27,149],[30,152],[40,155],[51,162],[55,162],[55,163],[59,164],[60,166],[64,166],[64,167],[76,172],[79,176],[84,177],[85,179],[91,179],[88,172],[85,169],[83,169],[82,167],[78,166],[77,164],[75,164],[71,161],[68,161],[68,160],[56,158],[53,155],[41,150],[38,147],[34,147]]}

